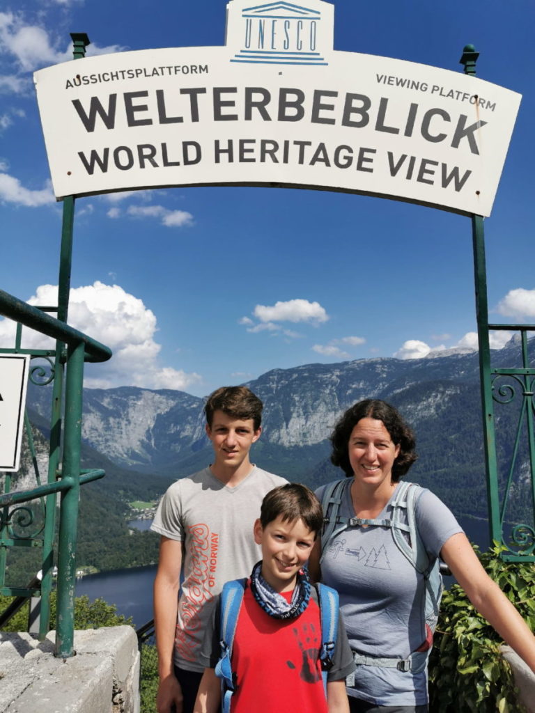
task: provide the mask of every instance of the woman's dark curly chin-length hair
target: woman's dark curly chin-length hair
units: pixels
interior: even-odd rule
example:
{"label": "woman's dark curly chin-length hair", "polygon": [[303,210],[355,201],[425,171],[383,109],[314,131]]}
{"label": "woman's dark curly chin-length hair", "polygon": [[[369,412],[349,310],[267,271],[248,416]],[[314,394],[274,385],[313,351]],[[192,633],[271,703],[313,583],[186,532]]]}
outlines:
{"label": "woman's dark curly chin-length hair", "polygon": [[390,406],[386,401],[365,399],[365,401],[359,401],[347,409],[340,421],[337,422],[330,437],[332,443],[331,462],[335,466],[340,466],[348,478],[352,478],[353,468],[350,464],[348,444],[357,423],[367,416],[370,419],[382,421],[384,428],[392,438],[392,443],[396,446],[399,444],[399,454],[392,466],[392,483],[397,483],[418,458],[414,450],[416,441],[412,430],[409,429],[394,406]]}

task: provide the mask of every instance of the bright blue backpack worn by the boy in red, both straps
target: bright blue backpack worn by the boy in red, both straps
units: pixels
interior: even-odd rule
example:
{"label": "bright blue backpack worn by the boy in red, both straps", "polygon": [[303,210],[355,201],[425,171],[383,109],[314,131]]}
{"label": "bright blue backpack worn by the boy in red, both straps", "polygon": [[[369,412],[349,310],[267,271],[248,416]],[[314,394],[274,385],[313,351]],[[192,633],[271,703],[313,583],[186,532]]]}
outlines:
{"label": "bright blue backpack worn by the boy in red, both straps", "polygon": [[[246,579],[233,580],[223,585],[221,592],[221,657],[215,666],[215,675],[221,679],[221,711],[230,712],[230,699],[238,687],[236,673],[232,670],[232,652],[238,615],[247,585]],[[338,633],[339,602],[338,593],[323,584],[314,585],[320,606],[322,645],[320,661],[322,665],[323,687],[327,695],[327,671],[332,667],[331,654],[336,646]]]}

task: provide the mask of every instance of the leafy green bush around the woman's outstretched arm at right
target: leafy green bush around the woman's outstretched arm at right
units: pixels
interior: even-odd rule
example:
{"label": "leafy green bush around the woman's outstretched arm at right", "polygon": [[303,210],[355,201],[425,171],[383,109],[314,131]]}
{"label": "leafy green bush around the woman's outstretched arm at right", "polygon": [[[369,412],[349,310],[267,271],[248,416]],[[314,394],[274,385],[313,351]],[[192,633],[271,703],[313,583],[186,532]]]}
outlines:
{"label": "leafy green bush around the woman's outstretched arm at right", "polygon": [[[504,562],[498,543],[481,554],[486,573],[535,629],[535,565]],[[502,640],[459,585],[444,592],[429,660],[429,709],[433,713],[521,713]]]}

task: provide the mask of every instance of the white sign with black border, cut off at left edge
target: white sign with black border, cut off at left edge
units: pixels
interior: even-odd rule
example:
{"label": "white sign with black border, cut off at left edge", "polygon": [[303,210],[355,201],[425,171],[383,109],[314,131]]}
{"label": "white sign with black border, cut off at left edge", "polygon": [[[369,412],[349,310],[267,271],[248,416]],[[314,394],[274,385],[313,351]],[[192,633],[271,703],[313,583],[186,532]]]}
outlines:
{"label": "white sign with black border, cut off at left edge", "polygon": [[18,471],[30,357],[0,354],[0,471]]}

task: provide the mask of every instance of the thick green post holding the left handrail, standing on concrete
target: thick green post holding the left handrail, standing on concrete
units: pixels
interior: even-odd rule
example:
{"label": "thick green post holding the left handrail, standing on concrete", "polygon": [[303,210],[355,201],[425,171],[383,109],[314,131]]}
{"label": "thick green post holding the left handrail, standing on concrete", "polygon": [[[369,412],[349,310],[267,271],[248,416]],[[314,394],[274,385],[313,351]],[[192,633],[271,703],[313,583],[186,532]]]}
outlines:
{"label": "thick green post holding the left handrail, standing on concrete", "polygon": [[63,477],[72,486],[61,493],[58,556],[58,595],[55,655],[73,656],[74,585],[76,582],[76,536],[80,495],[80,443],[82,421],[84,346],[68,347],[63,443]]}

